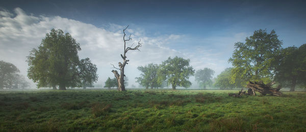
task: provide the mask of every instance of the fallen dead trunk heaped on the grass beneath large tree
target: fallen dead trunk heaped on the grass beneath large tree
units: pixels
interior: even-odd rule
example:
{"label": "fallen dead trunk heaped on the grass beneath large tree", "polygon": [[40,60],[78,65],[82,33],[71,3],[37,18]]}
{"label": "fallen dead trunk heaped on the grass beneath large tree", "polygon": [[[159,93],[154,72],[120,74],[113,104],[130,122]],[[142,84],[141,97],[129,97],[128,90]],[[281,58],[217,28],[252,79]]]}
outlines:
{"label": "fallen dead trunk heaped on the grass beneath large tree", "polygon": [[[279,96],[282,95],[282,92],[279,91],[279,89],[281,89],[281,86],[277,86],[277,88],[272,88],[272,85],[275,82],[271,82],[268,84],[264,84],[263,82],[251,82],[249,81],[249,83],[247,84],[247,88],[252,89],[253,94],[255,93],[254,91],[258,91],[263,95],[266,94],[271,94],[274,96]],[[248,90],[249,92],[250,90]]]}

